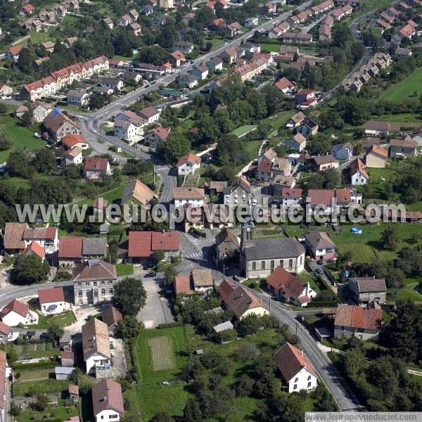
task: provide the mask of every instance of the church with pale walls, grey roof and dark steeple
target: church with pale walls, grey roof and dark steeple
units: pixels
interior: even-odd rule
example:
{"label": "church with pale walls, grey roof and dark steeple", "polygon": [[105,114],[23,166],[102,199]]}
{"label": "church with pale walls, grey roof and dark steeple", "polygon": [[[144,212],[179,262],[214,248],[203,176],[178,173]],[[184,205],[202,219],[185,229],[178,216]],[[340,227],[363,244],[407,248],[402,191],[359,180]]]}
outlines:
{"label": "church with pale walls, grey roof and dark steeple", "polygon": [[248,217],[241,226],[241,274],[247,279],[267,278],[276,267],[291,273],[305,269],[305,248],[295,238],[254,238],[255,224]]}

